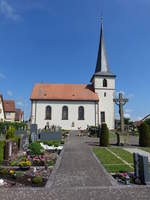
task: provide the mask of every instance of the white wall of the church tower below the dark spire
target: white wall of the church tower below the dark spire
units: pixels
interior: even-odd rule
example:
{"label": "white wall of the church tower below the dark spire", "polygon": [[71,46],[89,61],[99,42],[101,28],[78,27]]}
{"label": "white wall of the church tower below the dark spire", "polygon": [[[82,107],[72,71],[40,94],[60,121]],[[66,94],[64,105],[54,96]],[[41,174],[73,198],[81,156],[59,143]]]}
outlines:
{"label": "white wall of the church tower below the dark spire", "polygon": [[94,78],[95,92],[99,96],[99,123],[101,123],[101,112],[105,112],[105,122],[109,129],[114,129],[115,104],[113,99],[115,97],[115,79],[106,77],[107,87],[103,87],[103,79],[104,77]]}

